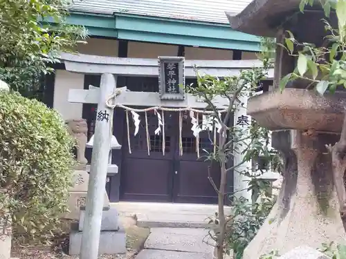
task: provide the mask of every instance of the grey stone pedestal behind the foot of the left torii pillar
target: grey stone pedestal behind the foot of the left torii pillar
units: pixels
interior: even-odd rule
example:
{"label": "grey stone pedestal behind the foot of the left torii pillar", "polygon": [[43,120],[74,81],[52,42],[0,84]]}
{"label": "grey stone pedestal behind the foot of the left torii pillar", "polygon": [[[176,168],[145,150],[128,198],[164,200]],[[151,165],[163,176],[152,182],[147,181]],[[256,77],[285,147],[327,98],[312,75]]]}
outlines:
{"label": "grey stone pedestal behind the foot of the left torii pillar", "polygon": [[[85,208],[80,210],[80,220],[71,224],[69,255],[79,255],[82,244]],[[99,254],[126,253],[126,233],[118,221],[116,208],[107,207],[102,211]]]}

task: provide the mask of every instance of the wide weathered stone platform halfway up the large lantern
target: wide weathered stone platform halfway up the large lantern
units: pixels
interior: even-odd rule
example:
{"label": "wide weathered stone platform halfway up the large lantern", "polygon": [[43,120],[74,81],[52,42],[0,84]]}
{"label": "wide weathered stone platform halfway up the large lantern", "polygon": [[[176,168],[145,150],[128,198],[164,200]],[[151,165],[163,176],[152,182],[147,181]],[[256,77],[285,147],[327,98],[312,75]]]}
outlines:
{"label": "wide weathered stone platform halfway up the large lantern", "polygon": [[271,131],[313,128],[340,133],[345,106],[346,93],[320,96],[311,90],[286,88],[248,99],[248,114]]}

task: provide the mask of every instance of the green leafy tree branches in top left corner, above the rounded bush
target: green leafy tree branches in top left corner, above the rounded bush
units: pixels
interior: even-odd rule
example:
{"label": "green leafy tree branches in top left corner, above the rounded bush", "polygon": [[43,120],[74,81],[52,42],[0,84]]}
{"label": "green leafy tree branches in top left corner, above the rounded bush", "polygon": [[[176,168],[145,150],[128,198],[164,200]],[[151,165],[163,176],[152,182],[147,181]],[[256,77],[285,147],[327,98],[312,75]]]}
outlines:
{"label": "green leafy tree branches in top left corner, above the rounded bush", "polygon": [[[86,31],[66,25],[69,0],[0,0],[0,79],[34,97],[42,75],[53,72],[59,52],[69,51]],[[53,23],[48,23],[53,21]]]}

